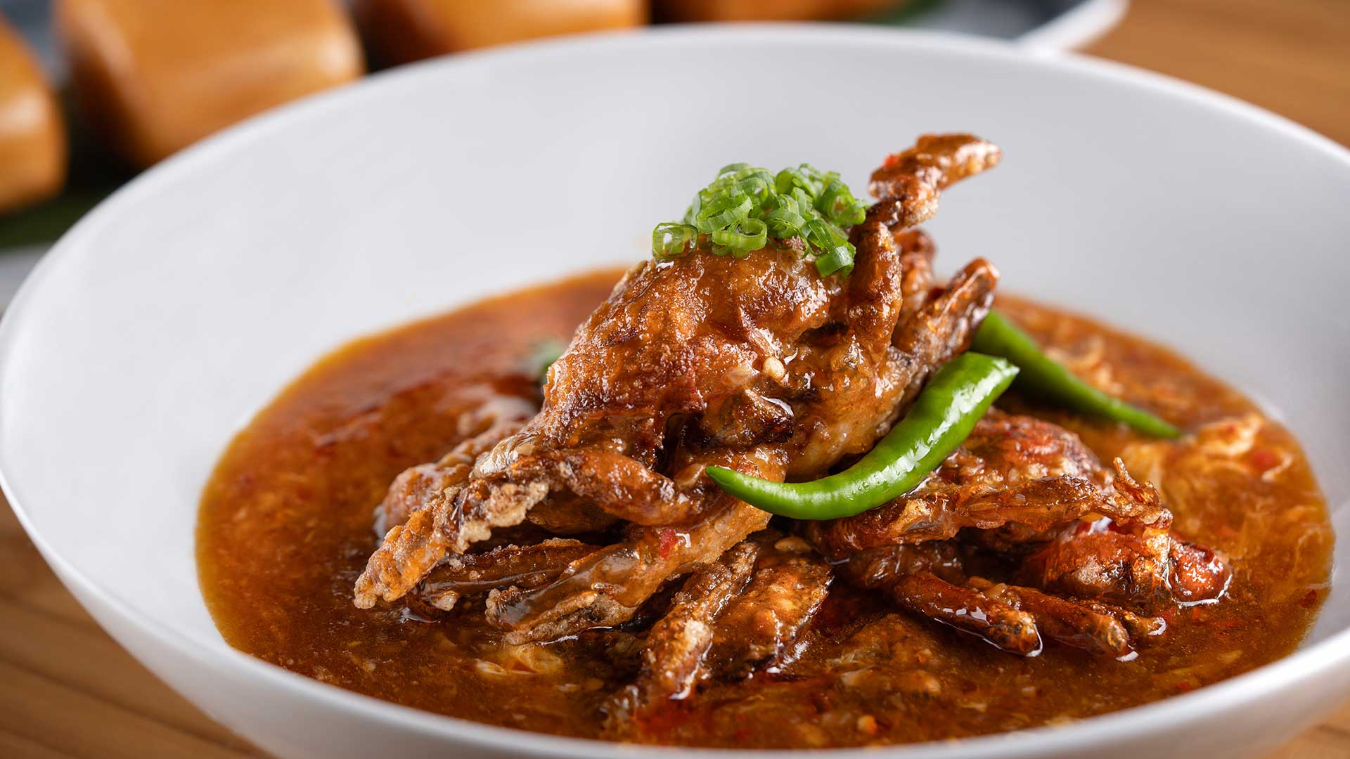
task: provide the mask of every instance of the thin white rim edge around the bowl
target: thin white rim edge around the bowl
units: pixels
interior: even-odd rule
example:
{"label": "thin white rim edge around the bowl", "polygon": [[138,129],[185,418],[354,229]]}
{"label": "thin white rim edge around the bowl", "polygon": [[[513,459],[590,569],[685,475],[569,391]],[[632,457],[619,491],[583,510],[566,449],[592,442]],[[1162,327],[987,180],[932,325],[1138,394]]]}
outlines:
{"label": "thin white rim edge around the bowl", "polygon": [[[667,24],[643,30],[625,30],[576,35],[563,39],[533,41],[506,45],[491,50],[459,54],[451,58],[436,58],[375,73],[355,84],[324,92],[302,101],[284,105],[265,115],[227,128],[202,142],[161,162],[127,186],[100,203],[68,231],[51,251],[43,257],[34,271],[23,282],[14,301],[0,317],[0,366],[12,361],[18,335],[28,328],[26,315],[34,298],[40,297],[45,282],[51,278],[55,261],[80,255],[89,238],[112,220],[124,207],[128,207],[157,185],[171,181],[182,174],[190,174],[198,166],[207,166],[220,157],[228,157],[256,136],[285,130],[288,123],[301,115],[321,116],[343,105],[347,100],[369,97],[371,90],[389,82],[405,78],[431,77],[433,72],[468,66],[490,66],[498,59],[529,59],[567,54],[578,49],[605,47],[630,54],[644,54],[645,50],[679,47],[690,43],[753,45],[753,43],[794,43],[830,46],[871,46],[875,49],[933,50],[954,53],[972,59],[1003,62],[1026,66],[1029,70],[1057,70],[1079,77],[1095,78],[1118,86],[1149,90],[1162,95],[1174,103],[1199,105],[1220,112],[1224,117],[1242,120],[1274,132],[1281,139],[1300,143],[1320,153],[1341,170],[1350,173],[1350,150],[1330,138],[1297,124],[1284,116],[1272,113],[1235,97],[1195,85],[1165,74],[1137,69],[1099,58],[1069,53],[1053,53],[1027,49],[1015,43],[983,39],[949,32],[922,30],[879,28],[861,24],[819,24],[819,23],[744,23],[744,24]],[[223,442],[224,446],[228,442]],[[414,731],[447,744],[459,743],[487,750],[514,751],[528,756],[585,756],[609,758],[634,754],[697,754],[698,756],[745,756],[745,750],[691,748],[691,747],[634,747],[591,739],[563,737],[532,731],[486,725],[458,717],[402,706],[389,701],[344,690],[338,686],[304,677],[298,673],[270,664],[228,644],[221,650],[212,648],[194,637],[167,627],[119,597],[115,589],[103,585],[94,577],[78,570],[65,556],[55,552],[51,544],[34,525],[16,475],[8,465],[9,455],[4,439],[0,438],[0,489],[9,501],[19,523],[38,547],[42,556],[57,570],[62,582],[84,597],[131,625],[146,639],[158,646],[166,646],[200,667],[212,670],[234,670],[240,677],[258,681],[285,698],[309,700],[325,708],[336,709],[350,718],[378,720],[390,727]],[[1332,574],[1334,577],[1334,574]],[[84,605],[84,601],[81,600]],[[120,640],[119,640],[120,643]],[[948,741],[896,744],[884,748],[867,748],[871,755],[905,759],[946,759],[971,755],[1034,756],[1046,751],[1084,750],[1094,744],[1111,744],[1120,739],[1145,732],[1160,732],[1180,725],[1199,723],[1208,716],[1250,705],[1262,694],[1311,678],[1320,671],[1350,669],[1350,628],[1332,633],[1326,640],[1300,647],[1295,652],[1249,673],[1206,686],[1192,693],[1173,696],[1141,706],[1110,712],[1077,720],[1062,727],[1038,727],[1022,731],[992,733]],[[799,750],[759,750],[757,756],[801,756]],[[818,756],[856,758],[857,748],[834,748],[813,751]]]}

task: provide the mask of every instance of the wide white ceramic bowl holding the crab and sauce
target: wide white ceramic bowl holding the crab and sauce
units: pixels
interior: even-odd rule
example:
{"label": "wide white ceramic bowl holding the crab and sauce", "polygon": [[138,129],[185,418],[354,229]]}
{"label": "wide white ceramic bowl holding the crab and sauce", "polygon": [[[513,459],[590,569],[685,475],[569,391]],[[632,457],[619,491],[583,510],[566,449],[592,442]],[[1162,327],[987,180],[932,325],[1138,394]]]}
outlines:
{"label": "wide white ceramic bowl holding the crab and sauce", "polygon": [[[919,132],[957,130],[1006,161],[944,199],[941,261],[987,255],[1007,288],[1162,339],[1266,398],[1350,535],[1350,154],[1120,66],[846,27],[435,61],[155,167],[66,235],[4,316],[4,490],[108,632],[278,755],[637,754],[416,712],[231,650],[193,560],[212,465],[325,351],[641,258],[652,224],[724,163],[809,161],[861,184]],[[1347,628],[1342,581],[1307,644],[1250,674],[1064,728],[869,755],[1258,754],[1350,691]]]}

